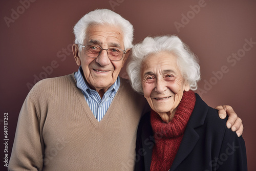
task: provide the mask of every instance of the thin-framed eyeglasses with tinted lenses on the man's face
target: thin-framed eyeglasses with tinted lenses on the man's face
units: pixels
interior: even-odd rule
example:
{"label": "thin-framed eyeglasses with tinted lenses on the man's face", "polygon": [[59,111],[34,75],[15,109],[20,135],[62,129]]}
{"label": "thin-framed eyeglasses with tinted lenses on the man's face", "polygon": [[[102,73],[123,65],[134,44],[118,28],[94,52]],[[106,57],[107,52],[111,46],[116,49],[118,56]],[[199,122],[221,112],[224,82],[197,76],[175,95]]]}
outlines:
{"label": "thin-framed eyeglasses with tinted lenses on the man's face", "polygon": [[118,48],[102,49],[100,46],[97,46],[97,45],[86,45],[86,46],[82,45],[82,48],[84,48],[84,54],[86,54],[86,56],[94,57],[94,58],[97,58],[102,52],[102,50],[106,50],[106,53],[108,54],[109,59],[113,61],[121,60],[123,58],[123,54],[126,53],[125,50],[123,51]]}

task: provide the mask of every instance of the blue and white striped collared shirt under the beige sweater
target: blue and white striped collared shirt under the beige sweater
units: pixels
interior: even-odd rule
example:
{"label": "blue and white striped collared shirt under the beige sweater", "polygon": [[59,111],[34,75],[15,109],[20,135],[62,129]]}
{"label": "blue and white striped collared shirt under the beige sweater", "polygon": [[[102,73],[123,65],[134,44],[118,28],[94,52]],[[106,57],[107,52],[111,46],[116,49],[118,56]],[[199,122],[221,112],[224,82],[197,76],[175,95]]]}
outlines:
{"label": "blue and white striped collared shirt under the beige sweater", "polygon": [[86,81],[84,81],[82,76],[82,68],[79,67],[78,72],[75,73],[76,86],[82,91],[84,98],[86,99],[91,111],[95,118],[100,121],[105,115],[106,111],[108,111],[109,106],[114,99],[117,90],[120,86],[120,78],[117,77],[115,83],[106,91],[102,97],[100,98],[98,92],[90,89]]}

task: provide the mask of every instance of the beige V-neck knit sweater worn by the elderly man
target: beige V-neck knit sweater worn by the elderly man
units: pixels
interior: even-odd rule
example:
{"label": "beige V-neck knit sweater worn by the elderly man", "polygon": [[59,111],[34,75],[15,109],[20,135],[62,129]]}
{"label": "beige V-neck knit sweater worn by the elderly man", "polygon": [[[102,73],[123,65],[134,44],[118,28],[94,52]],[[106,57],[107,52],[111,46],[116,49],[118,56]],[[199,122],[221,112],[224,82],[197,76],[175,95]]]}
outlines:
{"label": "beige V-neck knit sweater worn by the elderly man", "polygon": [[39,81],[19,114],[9,170],[133,170],[145,105],[121,79],[98,122],[74,74]]}

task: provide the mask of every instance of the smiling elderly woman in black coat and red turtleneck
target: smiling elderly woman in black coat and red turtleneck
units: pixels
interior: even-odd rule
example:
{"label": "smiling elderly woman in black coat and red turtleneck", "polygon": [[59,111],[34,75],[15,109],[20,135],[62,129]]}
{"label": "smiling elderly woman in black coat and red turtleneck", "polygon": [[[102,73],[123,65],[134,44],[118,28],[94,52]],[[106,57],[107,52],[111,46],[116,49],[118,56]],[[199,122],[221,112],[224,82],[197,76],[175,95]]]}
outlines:
{"label": "smiling elderly woman in black coat and red turtleneck", "polygon": [[152,109],[138,127],[135,170],[247,170],[242,136],[193,92],[200,67],[177,36],[146,37],[127,72]]}

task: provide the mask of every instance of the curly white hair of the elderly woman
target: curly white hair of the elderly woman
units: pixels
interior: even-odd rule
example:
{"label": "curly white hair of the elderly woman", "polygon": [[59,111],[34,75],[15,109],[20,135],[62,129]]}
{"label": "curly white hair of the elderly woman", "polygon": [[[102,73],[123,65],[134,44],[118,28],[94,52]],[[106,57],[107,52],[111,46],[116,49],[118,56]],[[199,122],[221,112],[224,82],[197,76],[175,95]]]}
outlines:
{"label": "curly white hair of the elderly woman", "polygon": [[133,89],[143,94],[141,81],[141,66],[147,56],[160,52],[169,52],[177,57],[177,65],[185,80],[188,81],[191,90],[197,90],[197,82],[200,80],[200,66],[198,58],[175,35],[146,37],[141,43],[132,49],[132,60],[127,65],[127,73]]}

